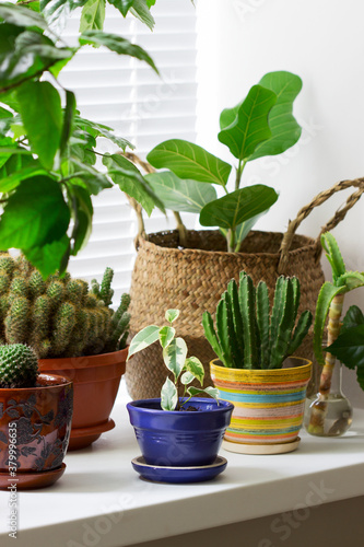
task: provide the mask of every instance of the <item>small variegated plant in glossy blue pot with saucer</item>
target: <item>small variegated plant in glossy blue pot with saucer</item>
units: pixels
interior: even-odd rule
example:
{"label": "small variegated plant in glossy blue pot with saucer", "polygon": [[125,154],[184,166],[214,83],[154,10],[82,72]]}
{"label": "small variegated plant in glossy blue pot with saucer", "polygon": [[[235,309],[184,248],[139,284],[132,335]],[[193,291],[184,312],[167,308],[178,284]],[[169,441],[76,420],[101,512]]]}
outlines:
{"label": "small variegated plant in glossy blue pot with saucer", "polygon": [[[158,340],[172,377],[164,382],[160,398],[127,405],[143,456],[133,465],[154,480],[207,480],[226,466],[226,461],[216,456],[233,405],[219,400],[219,391],[213,387],[189,385],[193,380],[202,385],[204,370],[199,359],[187,357],[185,340],[176,337],[173,323],[178,315],[178,310],[167,310],[168,325],[148,326],[130,342],[128,359]],[[200,394],[213,400],[195,397]]]}

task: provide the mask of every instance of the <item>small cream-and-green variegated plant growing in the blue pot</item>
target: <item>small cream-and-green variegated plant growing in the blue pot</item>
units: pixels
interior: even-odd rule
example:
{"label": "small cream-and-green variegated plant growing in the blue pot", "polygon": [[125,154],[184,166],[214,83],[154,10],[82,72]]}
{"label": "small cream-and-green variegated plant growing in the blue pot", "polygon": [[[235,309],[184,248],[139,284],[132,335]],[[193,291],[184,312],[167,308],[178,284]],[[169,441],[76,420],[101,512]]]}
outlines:
{"label": "small cream-and-green variegated plant growing in the blue pot", "polygon": [[[197,357],[187,357],[187,346],[183,338],[176,337],[176,330],[172,326],[178,318],[179,310],[167,310],[165,319],[167,325],[157,327],[150,325],[140,330],[131,340],[129,347],[129,360],[138,351],[142,351],[155,341],[160,341],[163,349],[163,361],[172,373],[172,379],[166,379],[161,391],[161,407],[163,410],[183,410],[195,395],[206,394],[218,400],[219,389],[215,387],[190,386],[197,380],[202,386],[204,377],[203,364]],[[183,397],[178,396],[179,386],[183,388]],[[219,401],[218,401],[219,403]]]}

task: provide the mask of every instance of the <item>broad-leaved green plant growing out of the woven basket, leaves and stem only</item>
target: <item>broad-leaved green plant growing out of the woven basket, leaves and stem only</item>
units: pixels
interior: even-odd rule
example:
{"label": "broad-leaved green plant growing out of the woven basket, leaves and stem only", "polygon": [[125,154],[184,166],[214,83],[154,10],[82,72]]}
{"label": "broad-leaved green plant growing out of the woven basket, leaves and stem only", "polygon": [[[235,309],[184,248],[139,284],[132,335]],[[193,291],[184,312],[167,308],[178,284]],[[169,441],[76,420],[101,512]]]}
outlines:
{"label": "broad-leaved green plant growing out of the woven basket, leaves and stem only", "polygon": [[[259,217],[277,201],[273,188],[257,184],[242,186],[248,162],[277,155],[297,142],[301,127],[293,117],[293,102],[302,88],[290,72],[270,72],[248,95],[220,116],[219,140],[237,160],[234,189],[227,189],[233,166],[203,148],[180,139],[155,147],[148,161],[165,168],[145,176],[164,206],[174,211],[197,212],[203,226],[219,226],[227,249],[238,252]],[[225,195],[218,198],[216,189]]]}

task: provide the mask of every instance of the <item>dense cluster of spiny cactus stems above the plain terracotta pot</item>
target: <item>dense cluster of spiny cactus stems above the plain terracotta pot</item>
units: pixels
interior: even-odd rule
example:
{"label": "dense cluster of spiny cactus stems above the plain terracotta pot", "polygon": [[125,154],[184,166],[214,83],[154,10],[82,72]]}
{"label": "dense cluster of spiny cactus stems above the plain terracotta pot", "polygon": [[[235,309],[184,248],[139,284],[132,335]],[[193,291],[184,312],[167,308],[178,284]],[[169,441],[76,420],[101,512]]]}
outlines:
{"label": "dense cluster of spiny cactus stems above the plain terracotta pot", "polygon": [[27,344],[39,359],[105,353],[126,346],[130,298],[110,307],[114,271],[101,286],[50,276],[46,281],[23,256],[0,255],[0,344]]}

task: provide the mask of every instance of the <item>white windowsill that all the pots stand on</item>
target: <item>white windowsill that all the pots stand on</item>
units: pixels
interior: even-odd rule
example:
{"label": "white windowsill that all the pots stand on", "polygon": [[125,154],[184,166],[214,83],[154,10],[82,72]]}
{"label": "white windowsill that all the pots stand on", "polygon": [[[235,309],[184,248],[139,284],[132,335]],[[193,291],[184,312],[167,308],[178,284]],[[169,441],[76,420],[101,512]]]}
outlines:
{"label": "white windowsill that all the pots stand on", "polygon": [[[221,451],[226,470],[196,485],[141,480],[130,464],[140,451],[124,397],[113,417],[114,431],[67,455],[57,485],[19,493],[17,547],[122,547],[364,494],[363,410],[355,411],[352,430],[341,439],[302,431],[301,446],[291,454]],[[8,537],[8,501],[0,492],[1,547],[14,545]]]}

